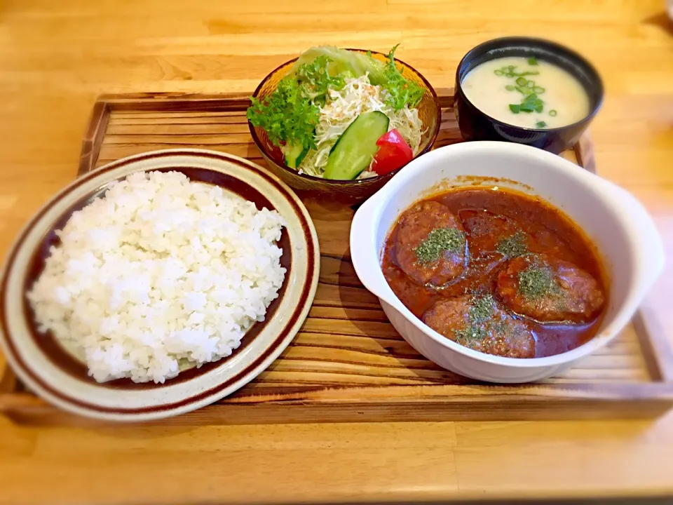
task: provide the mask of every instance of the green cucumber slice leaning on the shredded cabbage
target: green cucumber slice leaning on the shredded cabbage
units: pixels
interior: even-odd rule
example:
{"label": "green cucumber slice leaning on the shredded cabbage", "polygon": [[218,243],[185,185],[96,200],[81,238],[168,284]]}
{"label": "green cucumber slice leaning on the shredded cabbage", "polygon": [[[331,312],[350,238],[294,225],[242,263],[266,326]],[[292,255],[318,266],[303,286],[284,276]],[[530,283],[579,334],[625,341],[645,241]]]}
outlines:
{"label": "green cucumber slice leaning on the shredded cabbage", "polygon": [[372,163],[379,150],[376,140],[388,131],[390,119],[380,111],[360,114],[332,147],[325,167],[325,179],[352,180]]}

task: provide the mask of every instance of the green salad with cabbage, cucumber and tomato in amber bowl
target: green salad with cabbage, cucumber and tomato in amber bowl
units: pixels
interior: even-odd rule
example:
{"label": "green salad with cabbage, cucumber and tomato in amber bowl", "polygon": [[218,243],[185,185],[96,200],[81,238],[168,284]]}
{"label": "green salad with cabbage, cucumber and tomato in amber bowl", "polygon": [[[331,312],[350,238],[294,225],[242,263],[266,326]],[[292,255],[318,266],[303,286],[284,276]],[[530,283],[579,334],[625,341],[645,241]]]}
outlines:
{"label": "green salad with cabbage, cucumber and tomato in amber bowl", "polygon": [[278,88],[252,98],[247,118],[280,147],[285,164],[332,180],[376,177],[419,152],[424,88],[387,62],[333,46],[306,50]]}

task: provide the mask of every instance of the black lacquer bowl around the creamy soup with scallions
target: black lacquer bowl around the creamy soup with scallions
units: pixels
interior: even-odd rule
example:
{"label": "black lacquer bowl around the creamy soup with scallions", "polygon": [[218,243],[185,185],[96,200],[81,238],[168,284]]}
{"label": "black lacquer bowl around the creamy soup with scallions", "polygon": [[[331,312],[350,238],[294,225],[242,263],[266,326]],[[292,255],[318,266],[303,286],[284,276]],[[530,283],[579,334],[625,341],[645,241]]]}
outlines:
{"label": "black lacquer bowl around the creamy soup with scallions", "polygon": [[[524,128],[503,123],[478,109],[463,93],[461,82],[472,70],[496,58],[537,58],[569,72],[589,96],[590,112],[576,123],[559,128]],[[539,147],[555,154],[573,147],[603,102],[603,83],[597,70],[575,51],[545,39],[503,37],[480,44],[468,52],[456,69],[456,114],[465,140],[505,140]]]}

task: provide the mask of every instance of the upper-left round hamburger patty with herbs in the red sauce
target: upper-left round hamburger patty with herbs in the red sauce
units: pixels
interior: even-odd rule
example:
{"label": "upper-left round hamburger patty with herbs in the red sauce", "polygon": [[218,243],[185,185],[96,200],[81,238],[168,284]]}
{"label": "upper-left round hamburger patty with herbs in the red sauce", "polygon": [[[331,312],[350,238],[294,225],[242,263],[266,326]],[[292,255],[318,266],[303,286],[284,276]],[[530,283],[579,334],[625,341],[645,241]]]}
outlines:
{"label": "upper-left round hamburger patty with herbs in the red sauce", "polygon": [[395,262],[419,284],[440,286],[457,278],[465,265],[461,222],[441,203],[416,203],[397,223]]}

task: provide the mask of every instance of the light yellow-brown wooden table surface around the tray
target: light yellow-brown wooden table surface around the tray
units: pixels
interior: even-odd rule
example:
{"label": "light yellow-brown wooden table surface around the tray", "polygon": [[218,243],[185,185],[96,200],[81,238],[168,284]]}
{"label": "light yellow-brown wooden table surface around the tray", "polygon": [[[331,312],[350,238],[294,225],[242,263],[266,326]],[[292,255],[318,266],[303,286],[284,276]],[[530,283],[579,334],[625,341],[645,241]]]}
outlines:
{"label": "light yellow-brown wooden table surface around the tray", "polygon": [[[495,36],[547,36],[598,67],[601,175],[673,253],[673,28],[664,0],[90,1],[0,4],[0,256],[72,180],[95,97],[250,91],[308,46],[387,50],[434,86]],[[644,310],[673,342],[673,266]],[[0,502],[177,504],[673,494],[673,413],[652,421],[18,426]]]}

